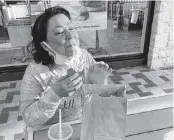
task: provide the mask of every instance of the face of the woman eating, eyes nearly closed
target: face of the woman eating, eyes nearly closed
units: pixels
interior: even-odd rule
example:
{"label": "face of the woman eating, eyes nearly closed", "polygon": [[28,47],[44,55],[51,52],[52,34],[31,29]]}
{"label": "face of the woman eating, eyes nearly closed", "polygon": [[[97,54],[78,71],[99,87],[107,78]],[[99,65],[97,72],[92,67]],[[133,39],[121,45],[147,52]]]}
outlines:
{"label": "face of the woman eating, eyes nearly closed", "polygon": [[67,57],[73,56],[73,46],[78,46],[79,37],[77,30],[67,16],[57,14],[48,20],[46,42],[57,53]]}

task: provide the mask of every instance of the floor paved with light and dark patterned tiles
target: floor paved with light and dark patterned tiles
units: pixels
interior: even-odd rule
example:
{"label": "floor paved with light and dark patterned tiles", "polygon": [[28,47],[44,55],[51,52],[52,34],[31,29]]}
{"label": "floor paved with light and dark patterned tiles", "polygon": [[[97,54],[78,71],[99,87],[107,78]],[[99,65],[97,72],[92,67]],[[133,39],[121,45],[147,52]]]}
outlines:
{"label": "floor paved with light and dark patterned tiles", "polygon": [[[128,100],[173,93],[173,68],[122,68],[111,78],[127,86]],[[21,140],[25,124],[19,112],[20,84],[21,80],[0,82],[0,140]]]}

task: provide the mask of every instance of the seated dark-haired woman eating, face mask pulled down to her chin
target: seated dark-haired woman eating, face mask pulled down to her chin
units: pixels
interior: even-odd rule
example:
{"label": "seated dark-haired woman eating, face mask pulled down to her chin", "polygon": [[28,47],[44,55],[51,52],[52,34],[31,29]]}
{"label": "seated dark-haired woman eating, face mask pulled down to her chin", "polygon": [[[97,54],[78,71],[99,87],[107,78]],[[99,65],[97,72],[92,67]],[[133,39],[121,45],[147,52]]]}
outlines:
{"label": "seated dark-haired woman eating, face mask pulled down to her chin", "polygon": [[34,24],[32,37],[34,61],[28,65],[21,84],[23,120],[30,127],[57,123],[58,108],[62,109],[63,121],[81,119],[80,88],[90,83],[88,71],[95,65],[109,71],[108,65],[96,62],[79,48],[78,33],[69,12],[62,7],[45,10]]}

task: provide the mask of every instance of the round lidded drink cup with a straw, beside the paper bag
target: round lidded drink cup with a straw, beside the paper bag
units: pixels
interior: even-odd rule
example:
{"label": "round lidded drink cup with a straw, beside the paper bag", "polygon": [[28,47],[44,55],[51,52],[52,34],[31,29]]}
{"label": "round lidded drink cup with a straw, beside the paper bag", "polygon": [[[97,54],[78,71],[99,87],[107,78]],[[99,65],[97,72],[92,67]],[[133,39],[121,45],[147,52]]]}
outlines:
{"label": "round lidded drink cup with a straw, beside the paper bag", "polygon": [[66,123],[62,123],[62,138],[59,135],[59,123],[51,126],[48,130],[49,140],[68,140],[73,134],[72,126]]}

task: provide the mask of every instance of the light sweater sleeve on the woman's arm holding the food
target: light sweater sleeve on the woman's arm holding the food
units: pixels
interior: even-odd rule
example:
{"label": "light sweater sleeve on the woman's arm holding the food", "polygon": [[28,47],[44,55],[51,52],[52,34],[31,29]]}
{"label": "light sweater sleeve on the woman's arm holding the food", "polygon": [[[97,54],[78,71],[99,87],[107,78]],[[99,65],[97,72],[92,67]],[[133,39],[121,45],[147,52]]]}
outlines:
{"label": "light sweater sleeve on the woman's arm holding the food", "polygon": [[46,123],[58,108],[60,98],[50,87],[43,90],[35,78],[36,70],[29,65],[21,83],[20,111],[27,126]]}

